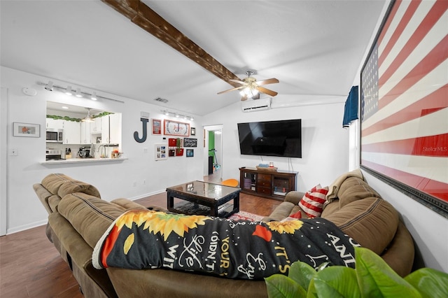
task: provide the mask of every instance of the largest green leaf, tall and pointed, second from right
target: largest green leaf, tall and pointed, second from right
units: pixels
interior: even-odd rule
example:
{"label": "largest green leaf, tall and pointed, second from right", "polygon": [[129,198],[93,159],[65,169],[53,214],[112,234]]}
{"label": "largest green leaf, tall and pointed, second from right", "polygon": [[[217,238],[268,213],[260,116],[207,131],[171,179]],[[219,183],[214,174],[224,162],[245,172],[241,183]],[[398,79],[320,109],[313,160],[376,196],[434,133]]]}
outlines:
{"label": "largest green leaf, tall and pointed, second from right", "polygon": [[355,259],[356,276],[363,297],[421,297],[419,291],[372,250],[355,247]]}

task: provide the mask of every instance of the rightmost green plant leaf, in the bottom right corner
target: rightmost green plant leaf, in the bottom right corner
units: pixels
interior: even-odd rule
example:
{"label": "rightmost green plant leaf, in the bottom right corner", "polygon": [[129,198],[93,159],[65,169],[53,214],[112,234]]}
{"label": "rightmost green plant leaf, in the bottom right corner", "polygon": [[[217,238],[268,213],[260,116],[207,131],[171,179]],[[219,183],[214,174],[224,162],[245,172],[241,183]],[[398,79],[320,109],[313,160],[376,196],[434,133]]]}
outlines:
{"label": "rightmost green plant leaf, in the bottom right corner", "polygon": [[431,268],[421,268],[405,277],[419,290],[422,297],[448,297],[448,274]]}

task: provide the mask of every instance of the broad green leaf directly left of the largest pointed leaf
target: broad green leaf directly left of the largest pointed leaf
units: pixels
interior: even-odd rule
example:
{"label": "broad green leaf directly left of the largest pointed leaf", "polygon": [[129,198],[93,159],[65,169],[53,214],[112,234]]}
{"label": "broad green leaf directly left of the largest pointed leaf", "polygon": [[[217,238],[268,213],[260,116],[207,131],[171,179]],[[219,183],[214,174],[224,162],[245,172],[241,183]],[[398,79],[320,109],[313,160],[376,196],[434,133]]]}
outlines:
{"label": "broad green leaf directly left of the largest pointed leaf", "polygon": [[333,266],[313,278],[317,297],[361,297],[355,269]]}

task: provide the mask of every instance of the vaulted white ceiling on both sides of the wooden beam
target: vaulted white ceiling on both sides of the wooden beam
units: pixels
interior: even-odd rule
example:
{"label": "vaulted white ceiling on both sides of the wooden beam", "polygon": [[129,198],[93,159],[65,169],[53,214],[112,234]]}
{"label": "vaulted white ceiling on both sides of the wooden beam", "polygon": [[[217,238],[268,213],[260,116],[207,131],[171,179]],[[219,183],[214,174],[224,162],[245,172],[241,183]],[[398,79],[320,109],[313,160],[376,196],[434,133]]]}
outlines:
{"label": "vaulted white ceiling on both sides of the wooden beam", "polygon": [[[385,2],[144,0],[239,78],[278,78],[266,87],[289,98],[348,94]],[[240,100],[102,1],[1,0],[0,10],[2,66],[194,115]]]}

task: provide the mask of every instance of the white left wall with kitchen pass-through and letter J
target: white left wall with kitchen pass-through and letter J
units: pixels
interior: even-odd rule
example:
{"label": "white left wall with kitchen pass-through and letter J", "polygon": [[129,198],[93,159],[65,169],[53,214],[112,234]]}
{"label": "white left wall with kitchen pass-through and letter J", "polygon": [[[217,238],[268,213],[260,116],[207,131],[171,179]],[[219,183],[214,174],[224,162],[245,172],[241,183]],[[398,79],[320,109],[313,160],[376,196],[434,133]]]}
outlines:
{"label": "white left wall with kitchen pass-through and letter J", "polygon": [[[52,78],[52,80],[55,85],[66,86],[68,84],[57,81],[57,78]],[[77,99],[62,92],[48,92],[43,89],[43,86],[37,85],[38,81],[46,82],[48,78],[1,67],[1,87],[8,88],[8,121],[3,121],[3,115],[1,120],[1,130],[8,133],[6,134],[6,140],[1,139],[1,142],[6,141],[7,150],[10,150],[10,148],[17,148],[18,150],[17,156],[7,156],[6,204],[8,206],[8,220],[6,231],[8,234],[42,225],[46,222],[48,215],[34,193],[32,185],[39,183],[48,173],[65,173],[72,178],[91,183],[99,189],[102,198],[108,201],[118,197],[138,199],[163,192],[168,186],[185,183],[189,180],[202,179],[202,146],[195,148],[194,157],[186,158],[184,154],[183,157],[169,157],[167,160],[155,162],[154,144],[165,143],[166,141],[162,140],[163,135],[151,135],[151,124],[148,124],[148,139],[144,143],[137,143],[134,140],[135,131],[139,132],[139,136],[141,136],[141,111],[150,113],[150,118],[167,118],[160,112],[160,107],[113,94],[105,94],[97,90],[92,91],[97,91],[98,94],[104,94],[106,97],[125,101],[125,103]],[[70,85],[73,86],[73,83]],[[38,94],[35,97],[29,97],[22,93],[23,87],[34,88]],[[2,103],[3,100],[2,98]],[[123,145],[121,148],[127,160],[94,164],[39,164],[39,162],[45,161],[46,101],[65,102],[122,113]],[[1,107],[3,108],[3,104]],[[13,137],[13,122],[40,124],[41,137]],[[195,115],[193,122],[188,120],[184,122],[190,122],[192,127],[202,127],[201,118],[197,115]],[[202,140],[202,129],[197,129],[196,133],[195,137]],[[0,136],[3,136],[3,134]],[[144,152],[144,148],[148,148],[148,153]],[[146,185],[144,185],[143,180],[147,181]],[[133,186],[134,182],[137,183],[137,186]]]}

